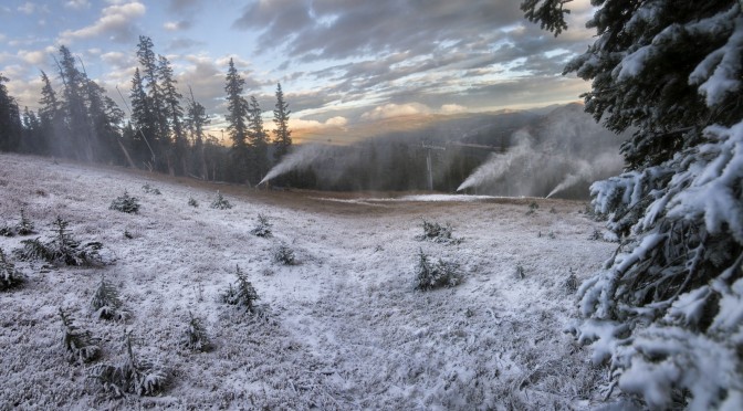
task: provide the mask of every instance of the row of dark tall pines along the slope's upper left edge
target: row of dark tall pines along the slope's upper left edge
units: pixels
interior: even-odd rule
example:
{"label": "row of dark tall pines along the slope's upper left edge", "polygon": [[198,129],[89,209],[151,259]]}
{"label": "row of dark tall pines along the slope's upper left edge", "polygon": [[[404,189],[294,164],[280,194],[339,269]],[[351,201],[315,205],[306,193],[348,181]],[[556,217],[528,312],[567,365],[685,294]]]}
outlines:
{"label": "row of dark tall pines along the slope's upper left edge", "polygon": [[224,147],[206,131],[211,119],[203,105],[195,99],[190,86],[184,97],[171,63],[155,53],[150,38],[139,36],[136,55],[128,118],[65,45],[60,46],[59,59],[54,57],[62,87],[55,89],[41,71],[36,112],[20,109],[6,86],[9,78],[0,74],[0,151],[249,185],[258,183],[289,152],[291,110],[281,84],[275,91],[275,127],[268,130],[263,109],[254,96],[244,96],[245,82],[230,59],[224,117],[231,145]]}

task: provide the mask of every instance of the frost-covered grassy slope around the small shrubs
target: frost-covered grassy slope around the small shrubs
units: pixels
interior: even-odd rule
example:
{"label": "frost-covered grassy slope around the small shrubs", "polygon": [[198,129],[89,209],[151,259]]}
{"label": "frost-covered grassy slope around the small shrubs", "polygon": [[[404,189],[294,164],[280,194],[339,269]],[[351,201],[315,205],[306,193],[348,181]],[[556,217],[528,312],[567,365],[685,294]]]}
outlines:
{"label": "frost-covered grassy slope around the small shrubs", "polygon": [[[145,193],[147,183],[161,194]],[[218,189],[232,209],[209,208]],[[108,209],[124,190],[139,199],[138,214]],[[27,283],[0,294],[0,409],[599,404],[606,372],[563,333],[576,313],[568,276],[587,277],[616,247],[589,240],[603,226],[582,213],[585,203],[255,191],[9,155],[0,155],[0,224],[18,223],[24,208],[38,232],[0,238],[6,254],[21,240],[48,239],[60,215],[76,240],[102,242],[108,262],[15,262]],[[250,233],[259,213],[273,224],[270,239]],[[416,240],[421,218],[451,223],[462,241]],[[282,243],[296,265],[273,262]],[[415,291],[419,250],[458,262],[463,283]],[[219,302],[236,265],[268,318]],[[125,323],[91,316],[102,275],[130,313]],[[126,358],[130,330],[137,357],[168,370],[167,389],[109,398],[86,378],[95,363],[65,359],[59,307],[102,338],[98,362]],[[203,319],[213,350],[179,346],[189,312]]]}

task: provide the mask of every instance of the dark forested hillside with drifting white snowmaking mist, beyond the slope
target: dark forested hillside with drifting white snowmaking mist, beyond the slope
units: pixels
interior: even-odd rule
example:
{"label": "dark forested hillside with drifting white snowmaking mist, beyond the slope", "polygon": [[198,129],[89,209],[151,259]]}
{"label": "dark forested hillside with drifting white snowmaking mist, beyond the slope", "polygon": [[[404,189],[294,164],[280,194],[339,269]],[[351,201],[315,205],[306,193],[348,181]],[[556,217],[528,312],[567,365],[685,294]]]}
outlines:
{"label": "dark forested hillside with drifting white snowmaking mist, beyond the slope", "polygon": [[585,199],[590,182],[621,170],[621,141],[579,104],[553,107],[546,114],[447,116],[412,129],[381,129],[348,146],[300,146],[264,180],[293,172],[293,182],[304,188],[426,190],[427,147],[433,147],[431,177],[437,191]]}

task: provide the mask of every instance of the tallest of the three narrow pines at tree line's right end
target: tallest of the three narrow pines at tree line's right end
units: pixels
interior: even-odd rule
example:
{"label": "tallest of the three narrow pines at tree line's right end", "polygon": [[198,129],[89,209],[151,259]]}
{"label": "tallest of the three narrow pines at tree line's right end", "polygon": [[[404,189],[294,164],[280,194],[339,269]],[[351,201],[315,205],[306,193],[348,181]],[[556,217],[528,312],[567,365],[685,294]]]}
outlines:
{"label": "tallest of the three narrow pines at tree line's right end", "polygon": [[227,133],[232,140],[230,157],[232,158],[232,168],[237,175],[237,180],[243,182],[248,178],[248,168],[250,166],[250,152],[248,149],[248,102],[242,96],[245,81],[240,76],[234,67],[234,62],[230,59],[230,65],[227,72]]}

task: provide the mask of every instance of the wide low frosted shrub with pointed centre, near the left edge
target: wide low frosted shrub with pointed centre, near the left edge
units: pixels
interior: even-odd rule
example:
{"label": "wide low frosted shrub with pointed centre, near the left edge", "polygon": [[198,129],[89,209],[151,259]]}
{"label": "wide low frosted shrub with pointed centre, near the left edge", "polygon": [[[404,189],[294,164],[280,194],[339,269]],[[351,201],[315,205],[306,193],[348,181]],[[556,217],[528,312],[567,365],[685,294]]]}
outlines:
{"label": "wide low frosted shrub with pointed centre, near the left edge", "polygon": [[103,263],[98,251],[103,247],[97,241],[81,243],[72,238],[69,222],[57,217],[52,223],[52,238],[42,243],[38,238],[21,241],[22,247],[15,251],[21,260],[43,260],[57,265],[92,266]]}

